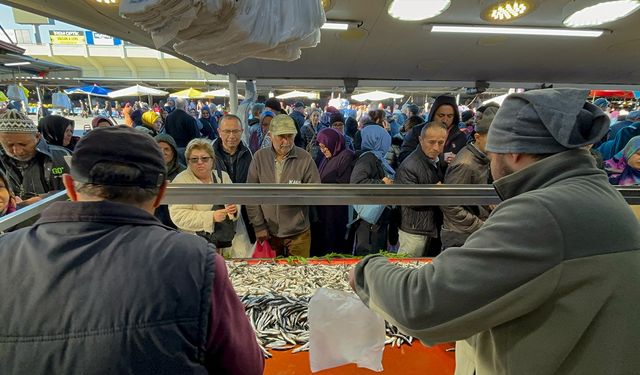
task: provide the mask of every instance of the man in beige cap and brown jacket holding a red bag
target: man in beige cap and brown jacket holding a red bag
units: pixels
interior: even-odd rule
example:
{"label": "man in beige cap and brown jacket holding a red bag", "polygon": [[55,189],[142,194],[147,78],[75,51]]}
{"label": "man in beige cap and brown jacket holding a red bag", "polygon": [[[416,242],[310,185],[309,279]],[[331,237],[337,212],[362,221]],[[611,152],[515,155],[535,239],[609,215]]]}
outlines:
{"label": "man in beige cap and brown jacket holding a red bag", "polygon": [[[320,183],[320,174],[311,155],[294,145],[296,125],[287,115],[271,121],[273,144],[258,150],[249,166],[247,183]],[[311,246],[308,206],[247,206],[258,241],[268,240],[278,255],[308,257]]]}

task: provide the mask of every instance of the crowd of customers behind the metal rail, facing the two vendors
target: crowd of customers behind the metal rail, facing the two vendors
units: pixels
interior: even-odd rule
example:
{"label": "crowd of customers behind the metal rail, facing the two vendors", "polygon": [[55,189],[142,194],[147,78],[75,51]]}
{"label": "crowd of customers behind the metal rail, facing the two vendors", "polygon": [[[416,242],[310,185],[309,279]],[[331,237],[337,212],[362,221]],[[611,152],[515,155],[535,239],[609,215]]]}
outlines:
{"label": "crowd of customers behind the metal rail, facing the two vendors", "polygon": [[[614,110],[605,99],[594,104],[611,117],[609,133],[591,148],[596,164],[612,184],[638,185],[640,111]],[[285,105],[270,98],[252,103],[247,119],[229,115],[213,103],[180,98],[151,106],[106,101],[104,107],[89,109],[85,104],[84,108],[87,114],[102,113],[93,118],[91,129],[122,123],[155,137],[174,182],[389,185],[490,184],[484,145],[499,105],[461,108],[455,98],[443,95],[427,108],[406,103],[394,108],[376,104],[338,109],[300,101]],[[44,115],[37,126],[25,119],[5,119],[5,124],[14,121],[9,125],[0,122],[3,215],[62,189],[58,180],[68,171],[62,156],[70,155],[79,139],[73,135],[70,118]],[[24,128],[15,128],[16,121],[24,121]],[[492,209],[200,204],[160,206],[156,217],[173,228],[217,241],[233,257],[251,256],[252,244],[265,240],[280,255],[390,250],[435,256],[463,244]],[[219,238],[225,222],[234,233],[226,242]],[[212,232],[220,235],[215,238]]]}

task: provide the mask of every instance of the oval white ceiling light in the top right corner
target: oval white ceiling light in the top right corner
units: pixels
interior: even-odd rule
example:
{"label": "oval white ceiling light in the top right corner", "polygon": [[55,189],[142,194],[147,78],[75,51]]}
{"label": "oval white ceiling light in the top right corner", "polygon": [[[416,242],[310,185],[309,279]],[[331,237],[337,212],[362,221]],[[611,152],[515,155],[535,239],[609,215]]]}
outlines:
{"label": "oval white ceiling light in the top right corner", "polygon": [[626,17],[640,8],[640,1],[574,0],[565,6],[563,23],[569,27],[597,26]]}

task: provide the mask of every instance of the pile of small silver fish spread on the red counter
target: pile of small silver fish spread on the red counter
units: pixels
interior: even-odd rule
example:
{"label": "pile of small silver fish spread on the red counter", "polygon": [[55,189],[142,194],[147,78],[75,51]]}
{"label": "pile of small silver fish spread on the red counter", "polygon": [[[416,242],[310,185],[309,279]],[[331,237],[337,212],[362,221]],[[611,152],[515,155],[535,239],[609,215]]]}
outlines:
{"label": "pile of small silver fish spread on the red counter", "polygon": [[[420,267],[423,263],[402,263]],[[350,291],[352,265],[228,262],[229,277],[266,358],[269,350],[309,350],[309,300],[317,288]],[[386,322],[385,345],[411,345],[413,337]]]}

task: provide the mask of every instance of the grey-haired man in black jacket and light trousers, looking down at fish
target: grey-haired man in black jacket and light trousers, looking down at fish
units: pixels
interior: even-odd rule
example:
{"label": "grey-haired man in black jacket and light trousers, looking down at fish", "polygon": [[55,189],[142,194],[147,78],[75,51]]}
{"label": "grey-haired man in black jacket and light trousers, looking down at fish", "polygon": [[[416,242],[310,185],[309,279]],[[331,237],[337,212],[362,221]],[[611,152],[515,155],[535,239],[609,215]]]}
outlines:
{"label": "grey-haired man in black jacket and light trousers, looking down at fish", "polygon": [[[396,184],[437,184],[442,182],[445,165],[440,156],[447,139],[447,128],[439,121],[422,127],[417,147],[396,172]],[[402,206],[398,231],[398,253],[421,257],[431,239],[438,237],[440,210],[434,206]]]}

